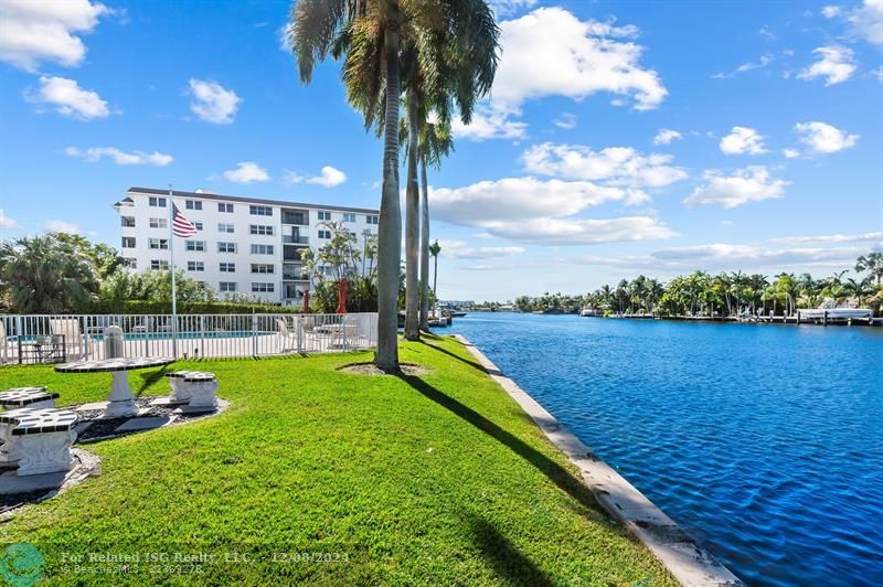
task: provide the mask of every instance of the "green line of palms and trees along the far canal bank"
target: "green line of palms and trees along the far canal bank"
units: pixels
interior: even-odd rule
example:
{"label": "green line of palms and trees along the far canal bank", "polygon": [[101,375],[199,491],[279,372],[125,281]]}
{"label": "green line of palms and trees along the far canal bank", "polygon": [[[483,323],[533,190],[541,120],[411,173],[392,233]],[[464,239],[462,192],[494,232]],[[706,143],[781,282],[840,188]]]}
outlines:
{"label": "green line of palms and trees along the far canal bank", "polygon": [[662,284],[639,275],[605,285],[583,296],[544,294],[521,296],[515,309],[522,312],[575,313],[592,308],[605,314],[658,314],[733,317],[741,313],[792,316],[798,308],[817,308],[827,300],[853,301],[880,314],[883,305],[883,254],[859,257],[855,277],[847,270],[828,277],[780,273],[774,276],[742,271],[709,274],[693,271]]}

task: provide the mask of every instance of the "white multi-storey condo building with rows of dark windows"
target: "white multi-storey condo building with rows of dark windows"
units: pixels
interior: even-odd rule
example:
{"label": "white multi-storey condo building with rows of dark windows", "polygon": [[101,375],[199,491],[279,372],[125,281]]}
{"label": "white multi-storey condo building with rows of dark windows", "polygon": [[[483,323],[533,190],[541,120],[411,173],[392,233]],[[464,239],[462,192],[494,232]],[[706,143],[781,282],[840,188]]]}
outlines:
{"label": "white multi-storey condo building with rows of dark windows", "polygon": [[[174,191],[173,198],[199,231],[190,238],[172,238],[174,265],[220,298],[245,294],[300,306],[310,288],[300,254],[328,243],[330,231],[322,223],[342,221],[360,246],[366,233],[377,233],[376,210],[202,191]],[[119,249],[130,270],[168,269],[169,206],[169,191],[152,188],[130,188],[114,204],[120,217]]]}

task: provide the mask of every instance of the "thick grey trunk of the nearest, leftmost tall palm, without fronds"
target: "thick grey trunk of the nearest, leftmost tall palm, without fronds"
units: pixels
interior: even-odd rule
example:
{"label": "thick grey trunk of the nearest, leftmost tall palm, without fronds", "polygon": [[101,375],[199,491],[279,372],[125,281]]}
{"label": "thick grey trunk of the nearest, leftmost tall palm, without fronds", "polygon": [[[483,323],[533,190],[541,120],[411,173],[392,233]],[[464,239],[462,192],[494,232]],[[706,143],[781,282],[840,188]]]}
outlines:
{"label": "thick grey trunk of the nearest, leftmost tall palm, without fronds", "polygon": [[402,212],[398,205],[398,33],[384,33],[386,120],[383,143],[383,195],[377,225],[377,352],[374,364],[398,371],[398,264]]}

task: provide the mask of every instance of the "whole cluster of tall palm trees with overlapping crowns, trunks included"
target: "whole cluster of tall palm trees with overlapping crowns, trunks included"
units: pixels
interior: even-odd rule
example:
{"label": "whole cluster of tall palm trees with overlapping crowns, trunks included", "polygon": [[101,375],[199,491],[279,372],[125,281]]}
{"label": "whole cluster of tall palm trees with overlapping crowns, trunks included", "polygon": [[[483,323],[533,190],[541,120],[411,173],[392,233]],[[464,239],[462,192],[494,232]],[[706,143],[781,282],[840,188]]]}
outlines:
{"label": "whole cluster of tall palm trees with overlapping crowns, trunks included", "polygon": [[[317,63],[328,55],[342,61],[350,104],[362,113],[366,129],[376,127],[383,136],[374,363],[383,371],[395,372],[402,237],[401,102],[404,98],[408,132],[405,335],[414,340],[419,337],[421,300],[427,298],[417,265],[422,255],[417,180],[421,134],[427,134],[430,117],[446,127],[455,106],[461,119],[469,122],[476,100],[493,81],[499,29],[485,0],[300,0],[292,8],[289,33],[301,82],[308,84]],[[430,157],[428,149],[423,149],[424,159]],[[428,262],[422,265],[428,267]]]}

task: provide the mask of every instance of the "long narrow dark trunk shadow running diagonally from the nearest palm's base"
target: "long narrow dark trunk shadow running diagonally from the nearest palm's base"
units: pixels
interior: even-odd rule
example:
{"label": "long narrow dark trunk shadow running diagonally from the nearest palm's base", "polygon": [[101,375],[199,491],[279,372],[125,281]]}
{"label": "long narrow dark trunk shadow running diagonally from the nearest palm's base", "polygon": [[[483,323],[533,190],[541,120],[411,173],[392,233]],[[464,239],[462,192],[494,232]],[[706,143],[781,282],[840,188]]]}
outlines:
{"label": "long narrow dark trunk shadow running diagonally from the nearest palm's base", "polygon": [[432,399],[439,406],[448,409],[453,414],[459,416],[479,430],[511,449],[522,459],[534,466],[540,472],[546,476],[550,481],[555,483],[562,491],[571,495],[585,508],[595,512],[602,511],[588,488],[575,479],[571,472],[567,471],[567,469],[553,461],[532,446],[528,445],[524,440],[518,438],[512,433],[504,430],[469,406],[461,404],[449,395],[436,389],[422,378],[405,374],[398,374],[396,376],[403,382],[407,383],[424,397]]}

